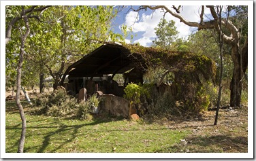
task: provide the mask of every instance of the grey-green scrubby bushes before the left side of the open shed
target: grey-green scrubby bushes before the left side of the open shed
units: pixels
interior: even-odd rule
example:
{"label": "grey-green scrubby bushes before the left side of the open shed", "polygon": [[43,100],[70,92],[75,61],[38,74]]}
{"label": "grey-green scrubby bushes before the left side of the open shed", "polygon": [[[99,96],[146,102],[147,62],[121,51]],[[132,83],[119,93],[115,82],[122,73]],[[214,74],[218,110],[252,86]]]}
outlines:
{"label": "grey-green scrubby bushes before the left side of the open shed", "polygon": [[41,94],[35,98],[34,106],[37,114],[52,115],[54,117],[72,117],[82,120],[92,120],[93,106],[99,105],[96,95],[91,96],[88,101],[77,103],[77,99],[67,95],[65,90],[54,90],[51,94]]}

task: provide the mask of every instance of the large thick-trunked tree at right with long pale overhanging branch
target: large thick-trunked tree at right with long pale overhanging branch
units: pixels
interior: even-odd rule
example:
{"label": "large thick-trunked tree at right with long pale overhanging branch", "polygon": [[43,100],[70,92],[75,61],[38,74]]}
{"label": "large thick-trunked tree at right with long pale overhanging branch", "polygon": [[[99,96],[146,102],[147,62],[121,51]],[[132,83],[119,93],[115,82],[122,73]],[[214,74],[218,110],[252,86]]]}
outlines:
{"label": "large thick-trunked tree at right with long pale overhanging branch", "polygon": [[[171,14],[172,16],[180,19],[181,22],[187,24],[188,26],[197,27],[198,30],[202,29],[214,29],[215,31],[219,32],[221,27],[218,23],[218,14],[217,14],[217,7],[213,5],[206,5],[202,6],[201,14],[199,15],[199,22],[190,22],[183,18],[180,14],[180,7],[181,6],[174,6],[169,8],[165,5],[157,5],[157,6],[150,6],[144,5],[140,6],[138,10],[146,10],[149,8],[150,10],[157,10],[161,9],[164,12]],[[204,7],[208,7],[210,10],[210,14],[212,16],[212,20],[204,20]],[[247,10],[246,6],[244,7],[235,7],[239,8],[239,13],[243,14],[244,20],[247,20]],[[234,6],[227,6],[227,10],[234,9]],[[234,15],[239,14],[237,10],[234,10]],[[234,16],[235,17],[235,16]],[[244,37],[241,37],[242,30],[238,28],[233,22],[232,19],[227,20],[227,18],[221,18],[222,26],[228,31],[223,34],[223,42],[227,43],[227,45],[231,46],[231,58],[234,65],[233,75],[230,83],[230,106],[240,107],[241,105],[241,92],[242,92],[242,80],[244,78],[244,73],[248,67],[248,41],[247,35],[244,33]],[[241,41],[244,39],[244,41]]]}

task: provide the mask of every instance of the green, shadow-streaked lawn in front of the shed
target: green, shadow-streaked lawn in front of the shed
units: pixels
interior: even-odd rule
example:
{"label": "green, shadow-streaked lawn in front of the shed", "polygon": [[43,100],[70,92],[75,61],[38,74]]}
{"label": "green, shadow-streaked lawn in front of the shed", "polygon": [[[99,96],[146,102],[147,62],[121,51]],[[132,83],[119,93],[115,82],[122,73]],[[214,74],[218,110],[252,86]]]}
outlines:
{"label": "green, shadow-streaked lawn in front of the shed", "polygon": [[[22,102],[22,105],[26,103]],[[5,113],[5,151],[16,153],[21,120],[14,101],[7,101]],[[93,121],[29,115],[24,152],[175,152],[176,143],[188,130],[172,130],[157,123],[146,124],[118,118],[96,118]]]}

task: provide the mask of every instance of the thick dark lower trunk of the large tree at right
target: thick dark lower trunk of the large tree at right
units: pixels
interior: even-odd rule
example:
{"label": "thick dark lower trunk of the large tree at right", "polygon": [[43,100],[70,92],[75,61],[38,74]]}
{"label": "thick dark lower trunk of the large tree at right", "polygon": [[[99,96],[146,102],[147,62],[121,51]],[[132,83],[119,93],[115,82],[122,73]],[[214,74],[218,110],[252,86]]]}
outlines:
{"label": "thick dark lower trunk of the large tree at right", "polygon": [[239,51],[238,46],[232,46],[231,58],[234,63],[233,77],[230,82],[230,106],[241,106],[241,94],[242,94],[242,79],[248,66],[248,50],[247,41],[242,48],[242,52]]}

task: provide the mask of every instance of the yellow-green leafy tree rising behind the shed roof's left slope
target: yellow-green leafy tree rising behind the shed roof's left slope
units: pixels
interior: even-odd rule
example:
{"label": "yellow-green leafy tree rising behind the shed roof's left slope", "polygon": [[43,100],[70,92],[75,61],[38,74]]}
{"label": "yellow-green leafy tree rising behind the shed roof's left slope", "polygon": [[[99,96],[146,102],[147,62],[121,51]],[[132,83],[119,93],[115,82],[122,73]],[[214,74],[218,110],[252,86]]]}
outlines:
{"label": "yellow-green leafy tree rising behind the shed roof's left slope", "polygon": [[29,41],[34,53],[31,60],[46,67],[54,79],[54,89],[67,66],[101,42],[116,38],[111,31],[111,20],[116,16],[112,6],[57,6],[44,16],[50,20],[41,24]]}

